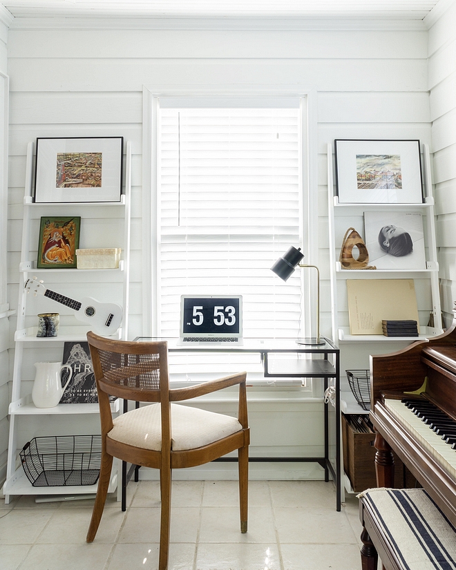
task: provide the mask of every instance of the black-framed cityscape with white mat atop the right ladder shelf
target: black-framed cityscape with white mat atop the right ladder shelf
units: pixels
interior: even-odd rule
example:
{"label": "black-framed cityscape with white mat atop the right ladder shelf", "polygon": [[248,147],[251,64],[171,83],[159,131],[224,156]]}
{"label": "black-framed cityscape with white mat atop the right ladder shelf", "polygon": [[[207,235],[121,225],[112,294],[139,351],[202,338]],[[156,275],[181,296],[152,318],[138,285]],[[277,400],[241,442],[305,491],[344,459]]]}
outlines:
{"label": "black-framed cityscape with white mat atop the right ladder shelf", "polygon": [[419,140],[334,140],[341,204],[421,204]]}

